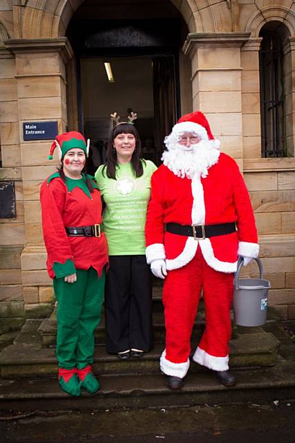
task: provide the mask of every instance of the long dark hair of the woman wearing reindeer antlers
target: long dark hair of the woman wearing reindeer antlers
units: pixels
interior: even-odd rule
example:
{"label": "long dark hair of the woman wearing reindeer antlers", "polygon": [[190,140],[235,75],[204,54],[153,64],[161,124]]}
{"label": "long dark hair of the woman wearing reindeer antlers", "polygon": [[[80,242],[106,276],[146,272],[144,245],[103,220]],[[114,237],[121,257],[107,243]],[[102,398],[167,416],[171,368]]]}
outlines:
{"label": "long dark hair of the woman wearing reindeer antlers", "polygon": [[113,147],[113,142],[119,134],[133,134],[133,136],[135,136],[135,150],[131,157],[131,165],[135,177],[141,177],[144,173],[142,164],[145,163],[144,159],[140,159],[142,143],[137,129],[134,125],[131,125],[131,123],[120,123],[120,125],[113,128],[108,140],[108,147],[106,148],[106,163],[104,164],[104,168],[102,168],[102,174],[104,174],[104,170],[106,170],[106,175],[109,179],[116,179],[116,167],[118,162],[117,152]]}

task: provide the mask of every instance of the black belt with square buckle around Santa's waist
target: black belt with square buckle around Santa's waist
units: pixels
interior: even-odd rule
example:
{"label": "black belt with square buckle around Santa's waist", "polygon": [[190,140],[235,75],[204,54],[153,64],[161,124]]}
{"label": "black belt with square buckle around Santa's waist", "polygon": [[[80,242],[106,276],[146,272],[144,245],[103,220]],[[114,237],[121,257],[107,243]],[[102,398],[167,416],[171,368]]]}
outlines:
{"label": "black belt with square buckle around Santa's waist", "polygon": [[166,231],[171,234],[185,235],[186,237],[193,237],[195,240],[204,240],[209,237],[216,237],[216,235],[225,235],[236,232],[236,223],[222,223],[222,224],[193,224],[184,225],[179,223],[167,223]]}

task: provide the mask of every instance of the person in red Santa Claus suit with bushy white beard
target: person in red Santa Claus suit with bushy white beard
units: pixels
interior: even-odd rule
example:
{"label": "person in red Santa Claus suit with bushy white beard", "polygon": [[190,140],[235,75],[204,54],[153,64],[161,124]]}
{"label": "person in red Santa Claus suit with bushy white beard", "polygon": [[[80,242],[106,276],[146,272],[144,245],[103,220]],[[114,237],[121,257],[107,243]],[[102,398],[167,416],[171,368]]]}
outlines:
{"label": "person in red Santa Claus suit with bushy white beard", "polygon": [[234,386],[229,372],[234,272],[238,255],[246,265],[259,251],[249,194],[202,112],[180,118],[164,143],[146,219],[146,259],[164,279],[166,348],[160,368],[169,388],[183,386],[202,289],[206,327],[193,361]]}

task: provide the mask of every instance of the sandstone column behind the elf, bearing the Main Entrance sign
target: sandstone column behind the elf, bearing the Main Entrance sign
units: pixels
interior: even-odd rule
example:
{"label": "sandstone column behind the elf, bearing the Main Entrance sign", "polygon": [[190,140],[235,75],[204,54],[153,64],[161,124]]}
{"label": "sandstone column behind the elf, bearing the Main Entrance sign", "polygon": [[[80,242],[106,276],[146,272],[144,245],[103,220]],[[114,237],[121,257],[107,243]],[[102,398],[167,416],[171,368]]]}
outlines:
{"label": "sandstone column behind the elf, bearing the Main Entrance sign", "polygon": [[39,187],[55,172],[57,154],[48,161],[51,140],[24,141],[23,122],[57,121],[58,132],[66,131],[66,62],[73,52],[66,37],[10,39],[6,47],[15,54],[25,247],[21,253],[21,276],[26,314],[43,316],[53,298],[46,272],[46,252],[41,229]]}

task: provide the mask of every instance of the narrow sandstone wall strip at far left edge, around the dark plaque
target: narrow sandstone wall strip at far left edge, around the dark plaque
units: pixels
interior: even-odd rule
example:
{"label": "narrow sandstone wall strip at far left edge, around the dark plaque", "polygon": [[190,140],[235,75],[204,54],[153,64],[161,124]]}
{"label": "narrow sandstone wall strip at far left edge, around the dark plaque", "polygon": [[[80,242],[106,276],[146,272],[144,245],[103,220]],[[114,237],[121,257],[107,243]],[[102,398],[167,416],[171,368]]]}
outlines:
{"label": "narrow sandstone wall strip at far left edge, around the dark plaque", "polygon": [[0,335],[7,334],[2,340],[9,342],[23,323],[21,251],[25,235],[15,57],[3,45],[2,37],[8,35],[0,23],[0,198],[4,198],[3,182],[15,186],[15,217],[0,219]]}

